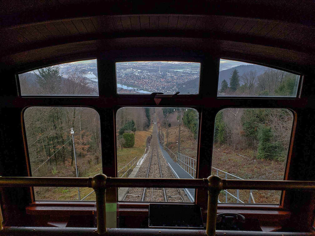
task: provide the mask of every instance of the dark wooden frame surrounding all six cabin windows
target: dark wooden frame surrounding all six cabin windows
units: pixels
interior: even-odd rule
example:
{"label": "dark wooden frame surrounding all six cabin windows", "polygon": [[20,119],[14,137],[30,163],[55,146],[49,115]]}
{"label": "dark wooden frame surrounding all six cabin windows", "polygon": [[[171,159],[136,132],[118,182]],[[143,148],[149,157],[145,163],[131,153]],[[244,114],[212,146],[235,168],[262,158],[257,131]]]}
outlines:
{"label": "dark wooden frame surrounding all six cabin windows", "polygon": [[[158,51],[159,56],[156,56]],[[296,132],[294,142],[292,145],[291,162],[289,164],[289,171],[287,173],[288,180],[313,180],[312,167],[312,143],[314,137],[312,130],[315,129],[314,124],[310,124],[310,120],[314,115],[313,82],[314,71],[311,68],[299,67],[299,65],[290,65],[281,62],[280,60],[269,60],[270,64],[281,68],[288,68],[289,70],[299,71],[303,74],[302,81],[303,89],[301,89],[300,96],[297,98],[217,98],[217,84],[219,75],[219,61],[220,58],[237,58],[247,61],[255,61],[255,64],[263,63],[266,59],[258,59],[255,57],[242,54],[214,52],[213,55],[202,52],[183,52],[175,53],[170,56],[171,52],[162,50],[152,50],[151,48],[142,48],[141,55],[135,55],[134,50],[120,50],[122,52],[117,57],[116,52],[107,51],[106,53],[88,53],[85,55],[72,55],[70,58],[81,60],[84,58],[97,58],[98,62],[98,78],[99,81],[99,97],[19,97],[16,89],[15,74],[19,71],[25,71],[29,68],[43,66],[49,62],[38,61],[29,65],[20,65],[16,68],[9,68],[3,70],[2,75],[7,78],[5,81],[5,90],[3,89],[3,100],[1,102],[1,114],[3,121],[1,123],[3,132],[3,148],[10,150],[0,162],[0,170],[3,176],[28,176],[27,162],[25,155],[27,153],[26,137],[22,130],[23,127],[23,110],[30,106],[87,106],[94,108],[100,115],[101,122],[101,144],[103,156],[103,173],[108,176],[115,176],[117,173],[116,158],[116,141],[115,141],[115,106],[156,106],[151,95],[121,95],[116,93],[116,77],[115,77],[115,62],[119,58],[124,58],[127,61],[129,58],[132,61],[136,60],[189,60],[192,58],[201,60],[201,75],[200,75],[200,91],[198,95],[179,95],[176,98],[168,99],[162,98],[159,106],[169,107],[192,107],[198,106],[200,109],[200,123],[199,123],[199,137],[198,137],[198,177],[207,177],[211,168],[212,143],[214,134],[214,120],[215,115],[221,109],[228,107],[249,107],[249,108],[287,108],[296,113]],[[146,53],[146,54],[145,54]],[[165,56],[161,56],[165,53]],[[146,56],[143,56],[146,55]],[[69,61],[64,57],[66,61]],[[68,57],[69,58],[69,57]],[[242,60],[243,61],[243,60]],[[62,59],[50,60],[51,64],[63,63]],[[31,66],[31,67],[30,67]],[[215,86],[214,86],[215,85]],[[10,131],[9,131],[10,130]],[[106,130],[106,132],[104,132]],[[8,136],[7,133],[15,133],[15,136]],[[300,140],[308,140],[307,142],[300,142]],[[13,145],[14,143],[14,145]],[[13,163],[10,158],[12,156],[19,157],[19,163]],[[205,156],[209,158],[200,158]],[[302,157],[302,158],[301,158]],[[112,168],[115,167],[115,168]],[[304,172],[297,174],[297,171],[303,169]],[[108,189],[106,193],[106,200],[115,202],[117,199],[116,189]],[[31,203],[31,191],[29,188],[17,189],[3,189],[1,196],[1,206],[3,207],[4,218],[9,225],[23,225],[27,223],[26,207]],[[299,201],[295,199],[299,197]],[[197,204],[205,209],[207,202],[206,191],[198,191],[196,195]],[[284,197],[283,207],[279,210],[289,211],[291,213],[289,222],[295,220],[304,220],[309,224],[312,221],[312,204],[314,194],[311,193],[297,193],[287,192]],[[146,208],[146,204],[134,204],[130,207]],[[311,207],[307,207],[311,206]],[[222,209],[232,207],[234,209],[241,209],[241,206],[225,206]],[[313,206],[314,207],[314,206]],[[270,210],[274,209],[272,206],[258,206],[258,209]],[[219,207],[221,209],[221,207]],[[251,213],[258,214],[257,206],[246,206],[244,209],[252,211]],[[303,211],[301,211],[303,209]],[[14,214],[12,214],[14,213]],[[127,214],[128,215],[128,214]],[[17,220],[23,219],[17,223]],[[288,226],[289,227],[289,226]],[[292,226],[291,226],[292,227]],[[298,227],[298,226],[296,226]]]}

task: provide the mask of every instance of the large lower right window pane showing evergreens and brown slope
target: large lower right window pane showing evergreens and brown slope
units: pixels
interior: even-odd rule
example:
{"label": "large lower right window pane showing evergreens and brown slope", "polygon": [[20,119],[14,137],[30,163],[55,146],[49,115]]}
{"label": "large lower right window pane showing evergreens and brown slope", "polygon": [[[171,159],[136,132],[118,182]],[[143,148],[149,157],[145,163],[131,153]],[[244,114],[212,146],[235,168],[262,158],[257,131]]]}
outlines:
{"label": "large lower right window pane showing evergreens and brown slope", "polygon": [[[293,126],[288,109],[227,108],[215,117],[211,174],[283,180]],[[222,203],[279,204],[281,191],[222,190]]]}

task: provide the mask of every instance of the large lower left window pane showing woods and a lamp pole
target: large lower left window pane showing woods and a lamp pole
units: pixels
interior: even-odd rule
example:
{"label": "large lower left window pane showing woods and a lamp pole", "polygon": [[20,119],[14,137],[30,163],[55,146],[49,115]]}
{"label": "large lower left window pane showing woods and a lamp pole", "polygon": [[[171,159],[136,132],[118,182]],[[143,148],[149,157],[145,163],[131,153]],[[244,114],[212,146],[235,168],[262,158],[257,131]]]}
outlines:
{"label": "large lower left window pane showing woods and a lamp pole", "polygon": [[[30,107],[24,122],[33,177],[102,173],[100,117],[94,109]],[[34,187],[34,193],[36,200],[95,200],[90,188]]]}

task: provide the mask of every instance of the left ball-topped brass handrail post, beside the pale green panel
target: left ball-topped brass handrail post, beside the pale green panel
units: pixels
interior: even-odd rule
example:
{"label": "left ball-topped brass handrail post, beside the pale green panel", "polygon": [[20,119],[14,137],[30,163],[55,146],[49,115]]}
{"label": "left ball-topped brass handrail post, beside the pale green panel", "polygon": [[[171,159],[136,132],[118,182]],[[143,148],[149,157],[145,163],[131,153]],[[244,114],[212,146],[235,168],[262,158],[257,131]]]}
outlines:
{"label": "left ball-topped brass handrail post, beside the pale green panel", "polygon": [[106,179],[104,174],[97,174],[92,178],[92,188],[96,194],[97,233],[105,234],[106,229]]}

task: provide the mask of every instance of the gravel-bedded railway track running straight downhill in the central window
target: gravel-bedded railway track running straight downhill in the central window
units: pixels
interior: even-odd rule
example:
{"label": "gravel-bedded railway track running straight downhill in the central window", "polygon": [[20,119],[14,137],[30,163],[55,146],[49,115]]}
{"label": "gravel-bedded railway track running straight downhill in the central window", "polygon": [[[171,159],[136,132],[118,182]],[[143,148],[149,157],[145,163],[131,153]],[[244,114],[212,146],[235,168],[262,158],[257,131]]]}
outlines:
{"label": "gravel-bedded railway track running straight downhill in the central window", "polygon": [[[156,134],[154,124],[150,150],[136,175],[138,178],[172,178]],[[124,201],[183,202],[183,199],[177,188],[130,188]]]}

